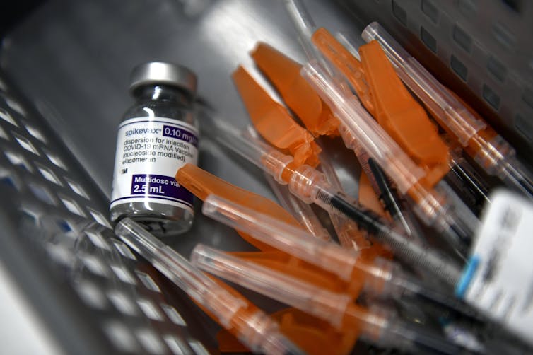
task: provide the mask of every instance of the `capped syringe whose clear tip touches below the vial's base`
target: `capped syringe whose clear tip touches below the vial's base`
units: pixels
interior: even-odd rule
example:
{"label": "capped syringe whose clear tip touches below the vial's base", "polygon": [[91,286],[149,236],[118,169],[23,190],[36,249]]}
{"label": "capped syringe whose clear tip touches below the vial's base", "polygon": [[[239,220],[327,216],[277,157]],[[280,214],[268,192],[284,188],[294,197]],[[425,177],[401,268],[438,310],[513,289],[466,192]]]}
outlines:
{"label": "capped syringe whose clear tip touches below the vial's base", "polygon": [[151,262],[165,277],[214,315],[254,352],[305,354],[279,332],[279,325],[237,291],[228,291],[131,219],[122,219],[115,234]]}

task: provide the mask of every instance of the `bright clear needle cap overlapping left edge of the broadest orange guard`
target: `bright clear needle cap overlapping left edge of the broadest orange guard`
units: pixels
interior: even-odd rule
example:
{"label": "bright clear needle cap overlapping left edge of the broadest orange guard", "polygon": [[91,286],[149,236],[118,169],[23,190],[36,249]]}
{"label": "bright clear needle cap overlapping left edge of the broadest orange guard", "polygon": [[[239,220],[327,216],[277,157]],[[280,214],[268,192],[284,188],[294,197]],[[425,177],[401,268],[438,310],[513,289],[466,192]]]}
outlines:
{"label": "bright clear needle cap overlapping left edge of the broadest orange guard", "polygon": [[314,63],[306,64],[302,76],[311,84],[342,124],[358,138],[359,144],[394,179],[405,194],[426,174],[398,144],[380,127],[352,94],[339,88],[324,70]]}

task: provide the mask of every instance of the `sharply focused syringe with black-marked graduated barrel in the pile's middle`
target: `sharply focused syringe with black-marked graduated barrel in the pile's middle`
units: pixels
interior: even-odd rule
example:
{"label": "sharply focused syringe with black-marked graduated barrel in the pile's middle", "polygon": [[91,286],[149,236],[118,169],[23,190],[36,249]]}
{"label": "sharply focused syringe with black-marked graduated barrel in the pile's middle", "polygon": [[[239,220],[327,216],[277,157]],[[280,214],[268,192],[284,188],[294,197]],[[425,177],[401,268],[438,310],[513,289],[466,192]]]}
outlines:
{"label": "sharply focused syringe with black-marked graduated barrel in the pile's middle", "polygon": [[413,267],[419,267],[435,275],[443,273],[447,260],[442,260],[442,257],[425,246],[411,243],[409,238],[397,231],[395,226],[391,226],[373,211],[364,209],[343,192],[333,189],[324,175],[315,168],[301,165],[294,169],[291,166],[291,157],[253,139],[252,136],[242,136],[222,119],[213,120],[212,124],[213,130],[210,132],[216,134],[213,139],[257,165],[272,175],[276,181],[288,184],[291,193],[304,202],[314,202],[326,211],[347,216],[355,221],[359,228],[368,232],[370,238],[389,245],[398,257],[402,257]]}

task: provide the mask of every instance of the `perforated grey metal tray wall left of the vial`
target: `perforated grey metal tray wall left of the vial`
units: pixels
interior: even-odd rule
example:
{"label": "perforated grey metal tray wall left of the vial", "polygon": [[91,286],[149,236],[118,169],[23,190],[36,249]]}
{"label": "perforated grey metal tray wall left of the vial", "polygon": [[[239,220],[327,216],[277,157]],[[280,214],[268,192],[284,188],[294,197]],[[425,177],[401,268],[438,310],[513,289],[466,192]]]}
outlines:
{"label": "perforated grey metal tray wall left of the vial", "polygon": [[[168,281],[114,238],[103,194],[84,178],[69,151],[54,140],[4,75],[0,148],[0,214],[17,232],[4,238],[21,238],[15,241],[35,249],[52,270],[49,276],[64,284],[62,291],[74,298],[78,315],[89,317],[83,318],[83,325],[80,320],[74,325],[92,325],[89,331],[96,337],[102,333],[102,349],[112,353],[208,353],[189,332],[191,319],[194,323],[197,317],[187,309],[194,306],[175,294],[168,296]],[[37,285],[32,288],[40,292]],[[189,314],[182,314],[184,309]],[[64,313],[61,308],[52,311]],[[54,327],[51,320],[45,322]]]}

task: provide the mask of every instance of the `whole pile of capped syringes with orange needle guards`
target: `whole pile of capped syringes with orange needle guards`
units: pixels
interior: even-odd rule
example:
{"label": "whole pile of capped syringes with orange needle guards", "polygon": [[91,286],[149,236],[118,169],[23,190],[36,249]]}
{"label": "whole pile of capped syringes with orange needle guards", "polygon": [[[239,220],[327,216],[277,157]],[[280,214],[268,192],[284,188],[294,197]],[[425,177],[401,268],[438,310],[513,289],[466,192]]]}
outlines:
{"label": "whole pile of capped syringes with orange needle guards", "polygon": [[[507,323],[460,297],[494,181],[533,198],[514,149],[379,24],[365,28],[357,51],[346,35],[315,28],[300,1],[285,3],[307,64],[266,44],[252,57],[290,111],[240,67],[233,80],[252,127],[203,122],[211,139],[264,171],[284,209],[192,165],[176,175],[206,216],[259,251],[197,245],[188,262],[129,219],[117,236],[250,351],[348,354],[359,339],[414,354],[533,351],[533,327],[499,327]],[[354,151],[359,183],[379,206],[343,191],[321,136]],[[328,228],[310,204],[327,211]],[[289,308],[268,315],[200,270]]]}

